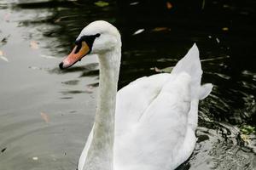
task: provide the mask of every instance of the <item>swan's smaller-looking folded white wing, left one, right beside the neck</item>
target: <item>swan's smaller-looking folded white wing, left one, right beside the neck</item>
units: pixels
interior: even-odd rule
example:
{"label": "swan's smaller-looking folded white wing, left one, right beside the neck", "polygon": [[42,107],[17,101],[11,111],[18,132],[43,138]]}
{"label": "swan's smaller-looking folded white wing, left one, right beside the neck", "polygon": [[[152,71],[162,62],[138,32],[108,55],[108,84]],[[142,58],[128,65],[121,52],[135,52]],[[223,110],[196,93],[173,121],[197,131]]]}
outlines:
{"label": "swan's smaller-looking folded white wing, left one, right beside the neck", "polygon": [[160,94],[170,74],[142,77],[119,90],[116,99],[115,135],[127,132]]}

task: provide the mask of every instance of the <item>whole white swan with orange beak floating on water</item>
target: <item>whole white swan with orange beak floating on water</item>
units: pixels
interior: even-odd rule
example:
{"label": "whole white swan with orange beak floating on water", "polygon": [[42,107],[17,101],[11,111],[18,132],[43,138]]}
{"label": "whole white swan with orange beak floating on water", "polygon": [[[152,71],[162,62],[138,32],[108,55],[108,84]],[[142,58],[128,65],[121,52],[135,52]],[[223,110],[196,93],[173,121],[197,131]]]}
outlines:
{"label": "whole white swan with orange beak floating on water", "polygon": [[100,86],[94,126],[79,158],[79,170],[170,170],[195,147],[201,63],[194,45],[171,74],[142,77],[117,93],[121,40],[106,21],[84,27],[76,47],[60,64],[67,68],[86,54],[97,54]]}

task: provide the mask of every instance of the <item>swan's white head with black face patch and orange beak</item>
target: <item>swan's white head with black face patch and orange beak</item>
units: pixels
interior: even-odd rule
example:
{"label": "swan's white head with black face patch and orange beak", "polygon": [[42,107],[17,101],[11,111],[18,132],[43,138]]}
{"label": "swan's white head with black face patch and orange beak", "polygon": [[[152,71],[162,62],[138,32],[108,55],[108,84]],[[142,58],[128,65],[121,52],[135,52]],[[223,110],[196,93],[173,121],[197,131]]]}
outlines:
{"label": "swan's white head with black face patch and orange beak", "polygon": [[75,41],[72,52],[59,65],[68,68],[87,54],[104,54],[121,47],[119,31],[103,20],[97,20],[85,26]]}

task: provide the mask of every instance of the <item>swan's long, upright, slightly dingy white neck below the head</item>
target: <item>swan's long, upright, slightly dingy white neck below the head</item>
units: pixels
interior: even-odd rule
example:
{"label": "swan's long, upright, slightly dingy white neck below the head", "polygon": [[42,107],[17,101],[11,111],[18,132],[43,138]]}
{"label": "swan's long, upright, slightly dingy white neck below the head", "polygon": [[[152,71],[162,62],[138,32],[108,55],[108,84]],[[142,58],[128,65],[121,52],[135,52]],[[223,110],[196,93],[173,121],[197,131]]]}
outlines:
{"label": "swan's long, upright, slightly dingy white neck below the head", "polygon": [[86,170],[113,170],[115,101],[121,49],[99,55],[100,87],[93,138],[85,161]]}

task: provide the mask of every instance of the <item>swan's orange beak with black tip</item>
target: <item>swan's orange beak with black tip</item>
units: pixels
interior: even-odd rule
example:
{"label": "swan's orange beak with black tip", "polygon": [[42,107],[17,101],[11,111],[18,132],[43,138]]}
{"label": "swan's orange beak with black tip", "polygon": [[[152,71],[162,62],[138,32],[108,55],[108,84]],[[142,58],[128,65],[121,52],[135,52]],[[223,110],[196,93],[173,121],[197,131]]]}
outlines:
{"label": "swan's orange beak with black tip", "polygon": [[78,46],[76,45],[72,52],[65,58],[59,65],[61,69],[67,69],[68,67],[74,65],[80,59],[82,59],[86,54],[90,52],[90,48],[86,42],[82,42],[81,48],[77,52]]}

